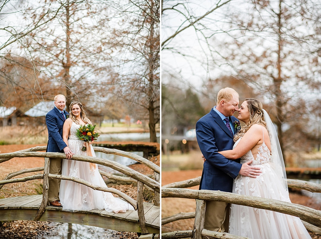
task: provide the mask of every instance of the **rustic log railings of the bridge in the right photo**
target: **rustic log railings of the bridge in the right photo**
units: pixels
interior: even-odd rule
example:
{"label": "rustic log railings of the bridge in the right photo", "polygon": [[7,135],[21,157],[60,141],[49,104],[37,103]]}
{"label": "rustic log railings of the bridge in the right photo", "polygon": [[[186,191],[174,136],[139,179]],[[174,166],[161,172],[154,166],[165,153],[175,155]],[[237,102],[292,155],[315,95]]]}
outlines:
{"label": "rustic log railings of the bridge in the right photo", "polygon": [[[196,209],[195,212],[181,212],[166,218],[161,219],[161,224],[165,225],[167,223],[195,218],[194,229],[188,231],[175,231],[169,233],[163,233],[162,239],[174,239],[174,238],[186,238],[192,237],[194,239],[207,238],[245,238],[236,235],[231,235],[229,233],[213,232],[204,229],[204,216],[206,210],[205,201],[220,201],[234,203],[238,205],[245,205],[249,207],[255,207],[260,209],[277,211],[292,216],[299,217],[304,226],[316,235],[321,235],[321,211],[315,210],[306,206],[283,202],[274,199],[266,199],[254,196],[245,196],[221,191],[213,190],[193,190],[187,189],[186,187],[192,187],[200,184],[201,177],[196,177],[192,179],[187,179],[180,182],[171,183],[164,185],[161,188],[162,198],[190,198],[196,199]],[[304,189],[310,192],[321,193],[321,185],[310,183],[301,180],[287,179],[288,186],[291,188]],[[253,238],[254,239],[254,238]]]}

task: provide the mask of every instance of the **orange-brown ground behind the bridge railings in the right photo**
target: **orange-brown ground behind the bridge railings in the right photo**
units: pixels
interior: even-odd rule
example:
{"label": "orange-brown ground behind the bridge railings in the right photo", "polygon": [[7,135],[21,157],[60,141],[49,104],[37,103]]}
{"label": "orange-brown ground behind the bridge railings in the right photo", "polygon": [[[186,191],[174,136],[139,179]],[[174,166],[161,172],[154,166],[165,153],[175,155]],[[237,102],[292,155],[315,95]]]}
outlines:
{"label": "orange-brown ground behind the bridge railings in the right photo", "polygon": [[[199,177],[202,175],[202,170],[185,170],[185,171],[162,171],[161,180],[162,185],[173,182],[178,182],[186,179]],[[190,189],[198,189],[199,186],[190,187]],[[321,210],[321,205],[318,204],[314,198],[290,193],[292,203],[304,205],[310,208]],[[194,212],[195,200],[185,198],[162,198],[161,200],[161,216],[162,218],[174,215],[179,212]],[[184,219],[168,223],[161,227],[162,233],[173,231],[192,230],[194,219]],[[311,234],[312,235],[312,234]],[[312,236],[313,239],[321,239],[321,236]]]}

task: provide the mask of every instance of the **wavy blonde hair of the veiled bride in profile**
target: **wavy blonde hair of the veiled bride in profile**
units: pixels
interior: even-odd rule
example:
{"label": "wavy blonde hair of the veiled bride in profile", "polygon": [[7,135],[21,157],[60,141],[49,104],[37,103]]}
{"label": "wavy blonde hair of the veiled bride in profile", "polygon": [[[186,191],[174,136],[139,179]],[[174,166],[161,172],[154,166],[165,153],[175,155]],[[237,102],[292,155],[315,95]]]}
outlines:
{"label": "wavy blonde hair of the veiled bride in profile", "polygon": [[243,125],[239,132],[234,136],[234,142],[242,137],[252,125],[261,124],[266,128],[262,103],[254,98],[246,98],[244,101],[246,101],[248,111],[250,112],[250,120],[247,124]]}

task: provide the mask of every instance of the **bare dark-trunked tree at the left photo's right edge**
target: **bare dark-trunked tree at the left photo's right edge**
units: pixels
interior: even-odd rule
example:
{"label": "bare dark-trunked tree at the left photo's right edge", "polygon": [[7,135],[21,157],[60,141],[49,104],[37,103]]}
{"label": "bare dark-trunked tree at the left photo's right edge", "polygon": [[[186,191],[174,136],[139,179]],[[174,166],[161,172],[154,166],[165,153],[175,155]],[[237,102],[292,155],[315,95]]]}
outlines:
{"label": "bare dark-trunked tree at the left photo's right edge", "polygon": [[[130,1],[136,17],[131,18],[132,27],[122,29],[125,38],[116,38],[133,58],[126,58],[130,74],[123,76],[124,88],[116,93],[131,104],[137,104],[148,112],[150,141],[157,142],[156,125],[160,121],[160,1]],[[120,35],[120,34],[116,34]],[[133,66],[133,62],[139,65]]]}

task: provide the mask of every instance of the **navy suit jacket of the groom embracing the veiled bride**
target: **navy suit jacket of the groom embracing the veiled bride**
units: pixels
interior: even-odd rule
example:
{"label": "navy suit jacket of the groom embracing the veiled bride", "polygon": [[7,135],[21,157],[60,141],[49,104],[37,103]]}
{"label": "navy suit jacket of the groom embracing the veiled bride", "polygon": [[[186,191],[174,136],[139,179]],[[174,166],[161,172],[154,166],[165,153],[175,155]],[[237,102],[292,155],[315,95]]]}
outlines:
{"label": "navy suit jacket of the groom embracing the veiled bride", "polygon": [[[234,116],[230,118],[232,122],[239,121]],[[234,142],[233,134],[213,109],[197,121],[196,138],[206,159],[200,189],[232,192],[233,179],[238,176],[242,165],[239,160],[229,160],[218,153],[232,149]]]}

